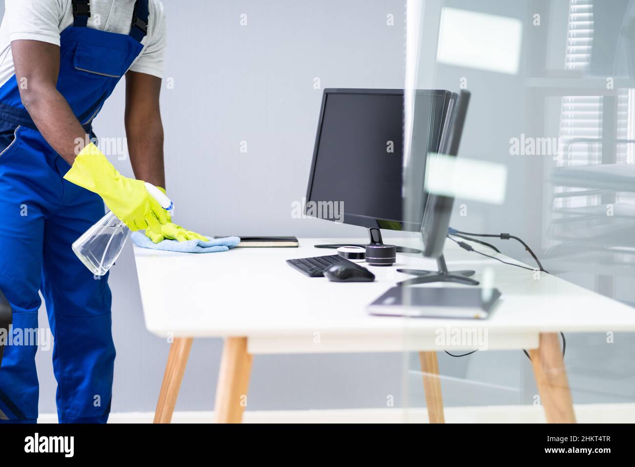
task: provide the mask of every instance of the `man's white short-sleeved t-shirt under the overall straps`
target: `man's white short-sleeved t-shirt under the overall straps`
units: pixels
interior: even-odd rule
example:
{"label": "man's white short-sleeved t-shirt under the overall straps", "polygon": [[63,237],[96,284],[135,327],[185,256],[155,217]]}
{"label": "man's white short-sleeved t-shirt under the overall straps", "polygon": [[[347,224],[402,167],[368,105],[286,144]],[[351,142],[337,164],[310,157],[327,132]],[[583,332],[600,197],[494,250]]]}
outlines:
{"label": "man's white short-sleeved t-shirt under the overall straps", "polygon": [[[144,49],[130,70],[163,78],[166,21],[160,0],[149,0]],[[88,27],[129,34],[135,0],[90,0]],[[5,0],[0,26],[0,86],[13,77],[11,41],[32,39],[60,45],[60,33],[73,24],[72,0]]]}

